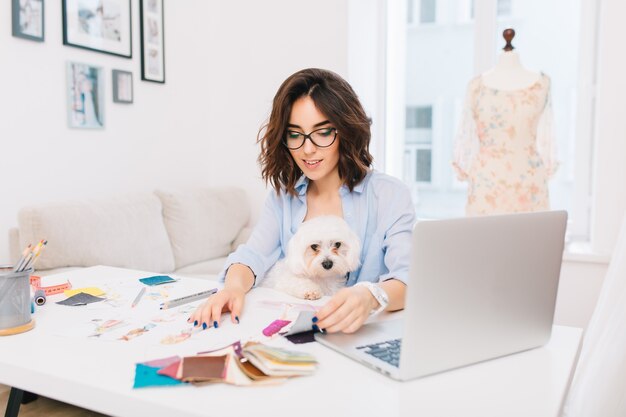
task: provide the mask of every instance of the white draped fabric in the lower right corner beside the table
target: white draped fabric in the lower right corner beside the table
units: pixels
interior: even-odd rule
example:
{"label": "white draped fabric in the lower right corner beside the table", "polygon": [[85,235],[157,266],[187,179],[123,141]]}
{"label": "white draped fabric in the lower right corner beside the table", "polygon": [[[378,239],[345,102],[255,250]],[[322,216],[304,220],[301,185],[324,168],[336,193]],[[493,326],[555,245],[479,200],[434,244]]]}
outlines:
{"label": "white draped fabric in the lower right corner beside the table", "polygon": [[563,415],[626,416],[626,216],[583,339]]}

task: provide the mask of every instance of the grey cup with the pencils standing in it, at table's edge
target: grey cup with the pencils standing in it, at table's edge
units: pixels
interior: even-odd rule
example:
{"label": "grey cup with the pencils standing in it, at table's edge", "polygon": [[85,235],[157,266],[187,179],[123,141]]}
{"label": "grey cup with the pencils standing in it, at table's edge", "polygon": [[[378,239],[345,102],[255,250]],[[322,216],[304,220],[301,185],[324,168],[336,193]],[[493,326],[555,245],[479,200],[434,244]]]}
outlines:
{"label": "grey cup with the pencils standing in it, at table's edge", "polygon": [[0,267],[0,336],[28,331],[35,327],[31,317],[30,276],[48,242],[28,245],[14,266]]}

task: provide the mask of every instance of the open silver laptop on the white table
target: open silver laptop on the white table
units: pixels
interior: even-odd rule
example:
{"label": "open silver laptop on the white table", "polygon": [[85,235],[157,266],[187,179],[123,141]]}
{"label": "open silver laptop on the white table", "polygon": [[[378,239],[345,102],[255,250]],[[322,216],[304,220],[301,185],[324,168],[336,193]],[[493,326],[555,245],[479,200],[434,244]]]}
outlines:
{"label": "open silver laptop on the white table", "polygon": [[408,380],[550,339],[567,213],[418,222],[401,320],[315,338]]}

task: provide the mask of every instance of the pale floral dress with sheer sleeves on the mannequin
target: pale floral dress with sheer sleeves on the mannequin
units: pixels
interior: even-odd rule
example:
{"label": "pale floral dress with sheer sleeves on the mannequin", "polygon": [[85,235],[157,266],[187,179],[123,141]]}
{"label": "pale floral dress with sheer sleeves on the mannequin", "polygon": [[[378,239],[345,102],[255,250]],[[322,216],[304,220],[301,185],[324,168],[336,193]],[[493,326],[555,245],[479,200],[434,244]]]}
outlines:
{"label": "pale floral dress with sheer sleeves on the mannequin", "polygon": [[469,183],[467,215],[548,210],[555,154],[547,75],[518,90],[470,81],[452,163]]}

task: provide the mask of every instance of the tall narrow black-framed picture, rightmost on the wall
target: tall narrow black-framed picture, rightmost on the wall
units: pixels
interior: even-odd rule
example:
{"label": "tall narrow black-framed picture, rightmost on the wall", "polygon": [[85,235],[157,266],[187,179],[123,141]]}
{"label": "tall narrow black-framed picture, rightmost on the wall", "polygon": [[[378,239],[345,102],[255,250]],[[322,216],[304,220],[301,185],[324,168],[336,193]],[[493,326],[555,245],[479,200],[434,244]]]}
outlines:
{"label": "tall narrow black-framed picture, rightmost on the wall", "polygon": [[163,0],[139,0],[141,79],[165,83]]}

